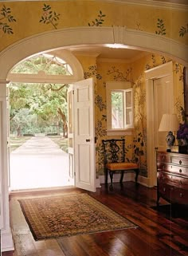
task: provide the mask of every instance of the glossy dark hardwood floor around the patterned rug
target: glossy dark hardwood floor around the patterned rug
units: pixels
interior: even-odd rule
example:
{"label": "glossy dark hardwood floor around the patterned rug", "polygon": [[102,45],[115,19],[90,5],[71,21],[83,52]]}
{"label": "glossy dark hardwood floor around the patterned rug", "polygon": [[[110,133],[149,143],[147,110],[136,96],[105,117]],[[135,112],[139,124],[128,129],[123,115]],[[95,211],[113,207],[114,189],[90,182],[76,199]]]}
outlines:
{"label": "glossy dark hardwood floor around the patterned rug", "polygon": [[[45,191],[45,195],[62,195],[80,189]],[[114,230],[99,234],[84,234],[66,238],[34,241],[25,223],[18,199],[40,196],[39,192],[27,195],[10,195],[10,216],[16,250],[13,256],[188,256],[187,209],[176,212],[155,211],[156,189],[135,183],[114,183],[113,191],[103,185],[94,198],[123,215],[138,227]],[[44,195],[44,194],[43,194]],[[160,199],[161,205],[166,201]],[[163,209],[163,207],[162,207]],[[3,256],[10,254],[3,253]]]}

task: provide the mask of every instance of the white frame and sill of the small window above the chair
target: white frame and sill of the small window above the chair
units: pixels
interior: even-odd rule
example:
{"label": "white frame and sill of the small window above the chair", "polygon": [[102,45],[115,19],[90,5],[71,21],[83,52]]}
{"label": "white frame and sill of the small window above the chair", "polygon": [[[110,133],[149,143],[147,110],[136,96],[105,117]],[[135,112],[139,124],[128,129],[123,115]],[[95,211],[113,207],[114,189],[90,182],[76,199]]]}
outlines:
{"label": "white frame and sill of the small window above the chair", "polygon": [[[132,123],[127,124],[124,128],[112,128],[112,92],[122,92],[123,91],[123,108],[124,116],[126,114],[126,93],[131,92],[131,109],[132,109]],[[107,100],[107,135],[108,136],[124,136],[131,135],[131,130],[134,128],[134,102],[133,102],[133,89],[131,87],[131,82],[107,82],[106,84],[106,100]]]}

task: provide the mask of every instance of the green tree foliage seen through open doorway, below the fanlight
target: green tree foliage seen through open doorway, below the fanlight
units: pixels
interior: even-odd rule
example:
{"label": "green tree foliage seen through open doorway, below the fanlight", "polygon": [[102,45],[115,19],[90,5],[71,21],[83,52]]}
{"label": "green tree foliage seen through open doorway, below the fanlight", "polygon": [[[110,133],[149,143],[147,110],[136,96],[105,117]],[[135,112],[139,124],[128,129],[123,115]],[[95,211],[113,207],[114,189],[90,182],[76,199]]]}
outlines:
{"label": "green tree foliage seen through open doorway, below the fanlight", "polygon": [[62,131],[64,121],[59,110],[67,120],[67,88],[68,85],[10,85],[10,131],[14,133],[19,128],[22,134],[54,132],[58,127]]}

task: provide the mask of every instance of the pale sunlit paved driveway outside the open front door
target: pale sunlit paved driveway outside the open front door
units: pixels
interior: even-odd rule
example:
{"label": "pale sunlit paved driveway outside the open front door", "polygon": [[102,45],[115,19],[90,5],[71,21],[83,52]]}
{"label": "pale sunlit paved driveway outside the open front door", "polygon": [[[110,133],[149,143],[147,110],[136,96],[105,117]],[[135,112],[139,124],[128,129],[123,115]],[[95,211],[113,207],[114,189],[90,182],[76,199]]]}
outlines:
{"label": "pale sunlit paved driveway outside the open front door", "polygon": [[71,185],[69,155],[48,137],[32,137],[10,153],[12,190]]}

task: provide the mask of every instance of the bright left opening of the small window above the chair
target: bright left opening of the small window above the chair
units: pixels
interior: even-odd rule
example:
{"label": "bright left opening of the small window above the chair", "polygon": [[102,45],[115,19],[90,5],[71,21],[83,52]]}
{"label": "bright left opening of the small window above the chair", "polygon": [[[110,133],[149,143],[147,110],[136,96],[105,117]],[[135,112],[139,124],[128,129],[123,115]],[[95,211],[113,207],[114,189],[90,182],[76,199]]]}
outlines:
{"label": "bright left opening of the small window above the chair", "polygon": [[112,128],[123,128],[123,92],[112,92]]}

